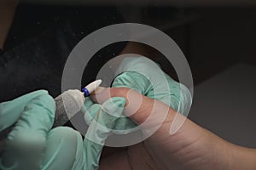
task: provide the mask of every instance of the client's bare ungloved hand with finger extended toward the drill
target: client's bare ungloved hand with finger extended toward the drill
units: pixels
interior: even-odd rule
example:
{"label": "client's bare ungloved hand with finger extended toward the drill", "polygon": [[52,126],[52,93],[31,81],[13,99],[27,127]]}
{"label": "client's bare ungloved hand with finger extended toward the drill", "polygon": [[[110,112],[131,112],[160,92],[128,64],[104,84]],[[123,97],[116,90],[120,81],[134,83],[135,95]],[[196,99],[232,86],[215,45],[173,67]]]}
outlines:
{"label": "client's bare ungloved hand with finger extended toward the drill", "polygon": [[[150,114],[154,119],[144,127],[155,126],[162,111],[168,111],[165,121],[158,130],[142,143],[131,145],[127,150],[119,150],[104,156],[100,169],[255,169],[256,150],[231,144],[207,129],[186,119],[177,133],[170,134],[174,116],[184,117],[168,105],[150,99],[129,88],[105,88],[91,98],[102,103],[110,97],[126,99],[125,115],[137,124],[144,122]],[[142,98],[135,112],[132,99]],[[156,105],[153,108],[153,105]]]}

